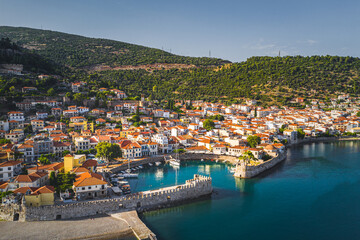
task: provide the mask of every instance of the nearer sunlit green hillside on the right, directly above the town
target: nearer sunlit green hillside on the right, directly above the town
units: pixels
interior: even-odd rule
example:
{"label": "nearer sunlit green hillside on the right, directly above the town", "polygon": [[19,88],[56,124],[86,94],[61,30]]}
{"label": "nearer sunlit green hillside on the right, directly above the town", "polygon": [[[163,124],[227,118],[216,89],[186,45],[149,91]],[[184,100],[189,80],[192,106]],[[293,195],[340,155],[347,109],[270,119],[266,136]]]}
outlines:
{"label": "nearer sunlit green hillside on the right, directly above the town", "polygon": [[215,69],[107,71],[74,75],[73,79],[155,99],[252,98],[285,104],[294,97],[324,99],[336,92],[359,94],[359,70],[360,59],[351,57],[253,57]]}

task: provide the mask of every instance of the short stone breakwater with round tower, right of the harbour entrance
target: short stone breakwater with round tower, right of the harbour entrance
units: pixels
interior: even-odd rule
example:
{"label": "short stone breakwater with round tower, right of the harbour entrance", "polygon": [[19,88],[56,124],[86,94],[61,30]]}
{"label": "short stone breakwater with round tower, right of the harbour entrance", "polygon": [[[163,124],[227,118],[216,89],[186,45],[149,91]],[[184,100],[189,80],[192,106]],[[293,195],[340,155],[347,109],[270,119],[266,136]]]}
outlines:
{"label": "short stone breakwater with round tower, right of the harbour entrance", "polygon": [[260,173],[274,167],[276,164],[285,160],[285,158],[286,158],[286,152],[281,153],[278,156],[256,166],[247,165],[244,162],[240,162],[239,164],[236,165],[234,176],[239,178],[255,177]]}

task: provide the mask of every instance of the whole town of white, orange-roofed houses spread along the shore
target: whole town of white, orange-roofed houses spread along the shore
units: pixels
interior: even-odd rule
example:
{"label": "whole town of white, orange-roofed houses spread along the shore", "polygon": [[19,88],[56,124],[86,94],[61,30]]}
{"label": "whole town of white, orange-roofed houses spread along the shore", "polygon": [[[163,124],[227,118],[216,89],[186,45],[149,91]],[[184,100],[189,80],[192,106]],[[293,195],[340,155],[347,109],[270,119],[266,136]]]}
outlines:
{"label": "whole town of white, orange-roofed houses spread along the shore", "polygon": [[[74,83],[72,90],[78,92],[83,85]],[[116,89],[99,91],[126,97]],[[76,174],[73,190],[77,199],[104,197],[107,183],[96,173],[98,162],[81,154],[102,142],[118,144],[124,159],[169,154],[175,149],[236,157],[250,151],[262,159],[284,151],[285,143],[296,143],[299,129],[305,137],[359,133],[358,102],[343,95],[338,100],[341,101],[334,102],[336,105],[330,111],[324,111],[315,100],[301,110],[265,109],[256,106],[254,100],[231,106],[176,101],[175,106],[181,110],[177,112],[157,107],[144,97],[140,101],[124,100],[107,108],[38,101],[34,105],[44,104],[50,110],[37,112],[31,118],[27,107],[31,109],[33,103],[27,107],[17,104],[19,110],[8,112],[7,119],[0,121],[0,138],[10,141],[0,146],[0,191],[22,193],[29,205],[49,204],[54,201],[51,198],[54,188],[49,186],[51,173],[71,172]],[[134,114],[139,116],[141,124],[132,122]],[[49,120],[49,115],[56,120]],[[216,116],[222,120],[215,120],[219,119]],[[206,130],[204,122],[209,118],[214,124]],[[26,131],[30,126],[31,131]],[[250,147],[247,138],[254,135],[260,142]],[[68,154],[64,156],[64,152]],[[43,154],[52,154],[53,163],[39,165],[37,160]],[[24,166],[34,163],[36,166],[27,169],[28,174],[21,173]],[[42,194],[44,197],[39,197]]]}

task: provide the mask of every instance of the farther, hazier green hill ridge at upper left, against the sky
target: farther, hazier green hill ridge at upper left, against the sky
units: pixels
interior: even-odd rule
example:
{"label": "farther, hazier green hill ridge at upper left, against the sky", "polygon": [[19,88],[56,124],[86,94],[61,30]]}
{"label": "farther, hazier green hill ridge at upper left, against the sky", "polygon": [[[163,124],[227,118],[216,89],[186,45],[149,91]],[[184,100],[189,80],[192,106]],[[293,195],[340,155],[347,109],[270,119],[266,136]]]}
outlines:
{"label": "farther, hazier green hill ridge at upper left, against the sky", "polygon": [[23,27],[0,27],[0,37],[8,37],[21,47],[32,50],[57,65],[71,69],[155,63],[217,66],[228,62],[216,58],[177,56],[159,49],[120,41]]}

